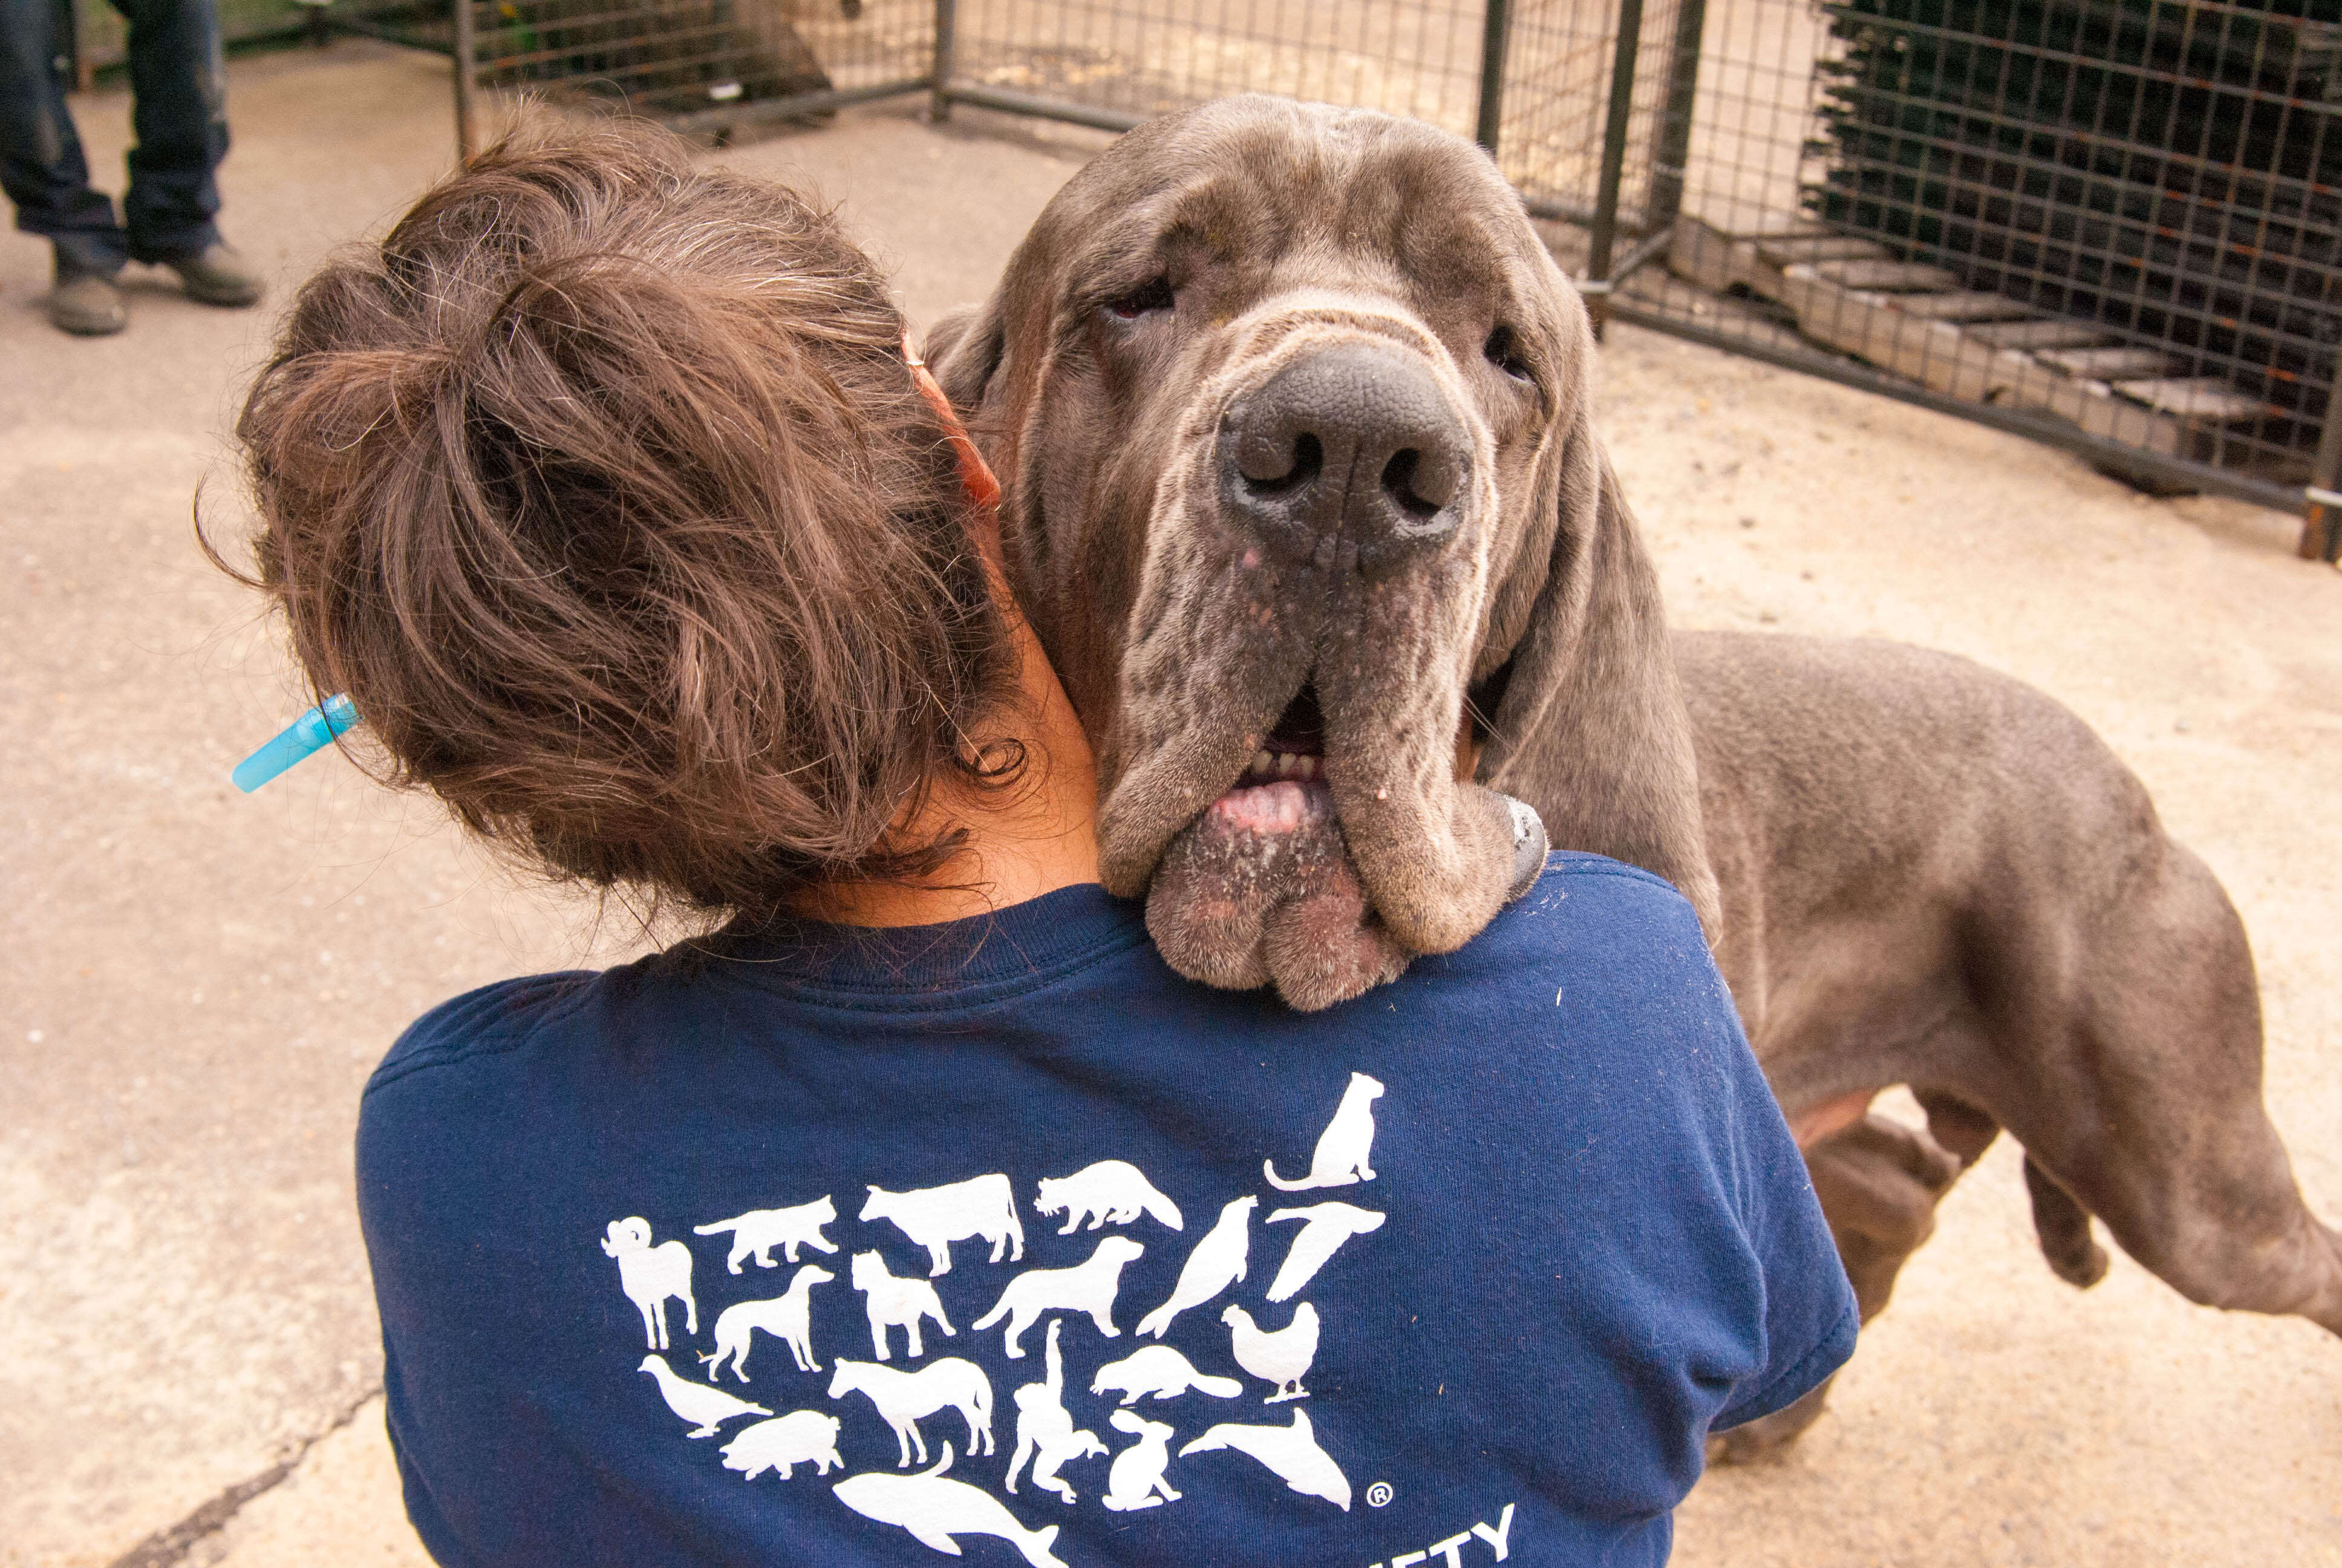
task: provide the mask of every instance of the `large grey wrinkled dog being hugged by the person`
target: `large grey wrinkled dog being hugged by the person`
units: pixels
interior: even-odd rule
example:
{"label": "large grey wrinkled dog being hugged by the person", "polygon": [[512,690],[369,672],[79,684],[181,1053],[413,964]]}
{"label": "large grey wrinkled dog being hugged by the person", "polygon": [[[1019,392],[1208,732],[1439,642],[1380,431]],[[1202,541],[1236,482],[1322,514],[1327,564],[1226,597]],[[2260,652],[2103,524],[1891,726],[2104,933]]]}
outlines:
{"label": "large grey wrinkled dog being hugged by the person", "polygon": [[[1499,792],[1698,907],[1864,1315],[2000,1127],[2052,1268],[2342,1334],[2244,928],[2070,713],[1883,642],[1677,633],[1586,309],[1490,159],[1230,98],[1131,131],[927,345],[1164,956],[1333,1005],[1485,926]],[[1927,1130],[1871,1116],[1906,1083]],[[1794,1437],[1820,1392],[1728,1455]]]}

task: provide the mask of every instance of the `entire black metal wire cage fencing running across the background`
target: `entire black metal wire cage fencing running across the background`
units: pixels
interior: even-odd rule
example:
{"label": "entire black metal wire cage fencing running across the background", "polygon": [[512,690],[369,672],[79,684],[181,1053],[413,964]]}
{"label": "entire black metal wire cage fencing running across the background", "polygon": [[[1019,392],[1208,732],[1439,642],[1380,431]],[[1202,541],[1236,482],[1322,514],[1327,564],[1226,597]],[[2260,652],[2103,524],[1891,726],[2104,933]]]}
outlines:
{"label": "entire black metal wire cage fencing running across the background", "polygon": [[[2342,307],[2342,255],[2330,265],[2307,255],[2309,218],[2293,218],[2293,251],[2279,255],[2267,213],[2260,230],[2241,232],[2225,206],[2213,218],[2199,211],[2204,202],[2234,206],[2251,180],[2286,185],[2295,209],[2316,204],[2312,216],[2342,204],[2342,183],[2321,183],[2319,162],[2328,120],[2342,159],[2342,63],[2323,77],[2321,101],[2286,98],[2302,91],[2298,75],[2274,91],[2251,77],[2274,28],[2328,26],[2281,9],[2302,2],[447,0],[452,28],[443,21],[438,35],[438,0],[356,0],[377,9],[337,14],[351,30],[454,56],[464,152],[475,145],[482,84],[557,77],[574,61],[586,66],[569,75],[600,80],[604,96],[717,136],[909,94],[925,94],[934,120],[965,103],[1103,131],[1244,89],[1417,115],[1490,150],[1586,293],[1597,330],[1630,321],[2031,436],[2141,485],[2293,511],[2300,553],[2337,560],[2342,396],[2319,377],[2342,361],[2305,373],[2302,354],[2328,354],[2342,338],[2342,309],[2319,314],[2326,300]],[[384,21],[382,7],[398,5],[405,21]],[[2070,35],[2052,38],[2038,16],[2061,7],[2084,14],[2101,42],[2129,40],[2122,47],[2138,59],[2105,49],[2096,59]],[[2035,19],[2033,33],[1979,21],[2019,12]],[[2199,30],[2204,14],[2218,19],[2218,35]],[[1780,23],[1771,35],[1766,16]],[[843,42],[845,23],[860,26],[855,47]],[[635,33],[614,35],[628,26]],[[2333,33],[2342,61],[2342,28]],[[2232,38],[2251,45],[2248,68],[2230,59],[2246,47],[2230,47]],[[1937,61],[1932,77],[1911,66],[1918,59]],[[2033,82],[2031,101],[2016,101],[2016,77]],[[2045,94],[2049,77],[2066,84],[2066,98]],[[2143,141],[2152,127],[2143,131],[2138,108],[2131,141],[2105,134],[2103,103],[2098,124],[2075,129],[2075,82],[2098,98],[2194,94],[2187,103],[2199,120],[2234,101],[2244,108],[2232,120],[2309,124],[2309,173],[2244,171],[2237,152],[2211,178],[2211,131],[2192,155],[2171,152]],[[2141,164],[2145,152],[2162,162]],[[2127,159],[2117,176],[2134,166],[2148,176],[2105,176],[2108,157]],[[1717,216],[1735,204],[1754,218]],[[2077,232],[2089,244],[2070,239]],[[2220,284],[2218,298],[2187,277],[2185,288],[2166,286],[2178,277],[2169,255],[2187,246],[2230,272],[2241,267],[2244,281]],[[2096,281],[2077,284],[2082,272]],[[2148,298],[2150,272],[2169,300]],[[2312,314],[2276,330],[2290,370],[2234,347],[2255,330],[2239,326],[2234,300],[2265,302],[2267,277],[2295,293],[2300,279],[2312,284]],[[2194,305],[2173,305],[2187,288]],[[2077,298],[2098,319],[2059,316]],[[2145,307],[2159,314],[2143,316]],[[2183,316],[2192,342],[2180,342],[2180,328],[2166,338],[2141,328]],[[2241,391],[2201,373],[2223,345],[2227,359],[2213,368]]]}

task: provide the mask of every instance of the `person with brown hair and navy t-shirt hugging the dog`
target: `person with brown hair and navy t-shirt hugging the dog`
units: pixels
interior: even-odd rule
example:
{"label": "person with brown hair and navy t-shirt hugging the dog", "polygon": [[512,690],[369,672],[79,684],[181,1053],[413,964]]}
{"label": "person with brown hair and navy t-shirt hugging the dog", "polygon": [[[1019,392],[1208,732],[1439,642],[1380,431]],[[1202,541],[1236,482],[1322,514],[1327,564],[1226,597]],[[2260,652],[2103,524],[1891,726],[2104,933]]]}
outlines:
{"label": "person with brown hair and navy t-shirt hugging the dog", "polygon": [[[309,281],[239,436],[248,581],[361,757],[696,926],[450,1001],[368,1083],[440,1563],[1656,1561],[1707,1432],[1850,1352],[1663,881],[1557,855],[1314,1015],[1155,956],[998,492],[792,192],[639,131],[501,145]],[[1068,1191],[1124,1200],[1028,1233]],[[1045,1380],[972,1331],[1007,1305]],[[740,1324],[792,1357],[749,1383]],[[1171,1371],[1131,1425],[1136,1334]],[[1035,1390],[1145,1432],[1016,1493]]]}

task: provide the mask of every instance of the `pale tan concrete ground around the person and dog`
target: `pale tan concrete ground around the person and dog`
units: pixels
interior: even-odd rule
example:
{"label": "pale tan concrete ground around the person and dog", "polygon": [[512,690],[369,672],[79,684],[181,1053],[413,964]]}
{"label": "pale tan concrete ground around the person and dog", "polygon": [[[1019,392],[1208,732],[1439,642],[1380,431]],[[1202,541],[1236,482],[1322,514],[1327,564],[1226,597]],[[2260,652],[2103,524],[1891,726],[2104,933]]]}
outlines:
{"label": "pale tan concrete ground around the person and dog", "polygon": [[[447,164],[445,66],[372,45],[232,68],[227,230],[274,302]],[[119,171],[122,94],[77,101]],[[721,155],[810,180],[932,319],[1096,145],[909,105]],[[222,431],[272,309],[141,279],[131,330],[40,316],[0,237],[0,1566],[415,1563],[351,1214],[356,1095],[398,1027],[621,921],[466,853],[337,757],[230,764],[300,708],[234,539]],[[2342,574],[2293,523],[1616,330],[1607,431],[1686,623],[1972,654],[2091,720],[2227,881],[2269,1104],[2342,1216]],[[2120,1259],[2049,1277],[2014,1151],[1944,1205],[1834,1411],[1719,1472],[1686,1563],[2342,1563],[2342,1345],[2192,1308]]]}

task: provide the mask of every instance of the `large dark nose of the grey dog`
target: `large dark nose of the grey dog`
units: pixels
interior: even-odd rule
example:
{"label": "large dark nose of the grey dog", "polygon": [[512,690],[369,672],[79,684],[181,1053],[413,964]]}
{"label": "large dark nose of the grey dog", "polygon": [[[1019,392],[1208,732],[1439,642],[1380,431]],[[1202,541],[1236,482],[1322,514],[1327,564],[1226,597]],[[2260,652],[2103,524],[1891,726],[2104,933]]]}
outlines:
{"label": "large dark nose of the grey dog", "polygon": [[1398,347],[1302,354],[1220,420],[1220,502],[1269,546],[1368,574],[1457,530],[1471,438],[1431,370]]}

